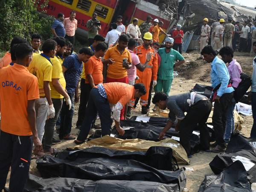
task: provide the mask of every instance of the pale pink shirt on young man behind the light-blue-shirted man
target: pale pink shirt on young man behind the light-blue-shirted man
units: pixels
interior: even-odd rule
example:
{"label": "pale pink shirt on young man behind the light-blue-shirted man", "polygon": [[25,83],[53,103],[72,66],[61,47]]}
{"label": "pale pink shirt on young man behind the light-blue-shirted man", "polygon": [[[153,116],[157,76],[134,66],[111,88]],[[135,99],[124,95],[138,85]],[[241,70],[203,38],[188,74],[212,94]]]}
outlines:
{"label": "pale pink shirt on young man behind the light-blue-shirted man", "polygon": [[242,73],[242,68],[236,59],[230,62],[227,66],[228,73],[230,74],[230,80],[232,83],[232,87],[237,88],[239,83],[241,82],[240,74]]}

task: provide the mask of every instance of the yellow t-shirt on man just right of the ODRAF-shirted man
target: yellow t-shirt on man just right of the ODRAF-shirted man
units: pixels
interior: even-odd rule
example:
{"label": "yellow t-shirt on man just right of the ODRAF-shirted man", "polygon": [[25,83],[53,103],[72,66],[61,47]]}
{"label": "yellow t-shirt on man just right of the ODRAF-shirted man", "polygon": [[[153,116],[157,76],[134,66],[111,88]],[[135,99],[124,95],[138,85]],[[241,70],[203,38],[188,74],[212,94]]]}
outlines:
{"label": "yellow t-shirt on man just right of the ODRAF-shirted man", "polygon": [[45,96],[44,81],[52,81],[52,63],[42,55],[33,54],[32,61],[27,69],[38,79],[39,95]]}

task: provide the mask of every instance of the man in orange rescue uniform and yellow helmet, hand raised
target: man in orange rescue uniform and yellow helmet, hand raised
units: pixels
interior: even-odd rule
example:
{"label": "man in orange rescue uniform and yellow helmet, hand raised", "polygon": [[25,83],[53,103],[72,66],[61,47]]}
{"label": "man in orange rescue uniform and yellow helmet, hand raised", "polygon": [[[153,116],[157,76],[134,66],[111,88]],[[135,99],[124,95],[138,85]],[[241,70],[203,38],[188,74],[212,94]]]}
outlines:
{"label": "man in orange rescue uniform and yellow helmet, hand raised", "polygon": [[[148,66],[145,68],[143,72],[137,70],[137,76],[139,79],[136,83],[143,83],[147,93],[140,98],[140,105],[142,106],[141,113],[147,114],[147,104],[148,104],[148,94],[149,94],[149,87],[151,82],[151,76],[153,75],[153,87],[157,84],[157,52],[150,47],[152,41],[152,34],[150,32],[146,32],[143,37],[143,45],[136,47],[134,49],[134,53],[136,53],[140,59],[140,63],[146,62],[146,54],[151,52],[151,59],[149,60]],[[129,102],[129,109],[133,107],[135,100],[132,99]]]}

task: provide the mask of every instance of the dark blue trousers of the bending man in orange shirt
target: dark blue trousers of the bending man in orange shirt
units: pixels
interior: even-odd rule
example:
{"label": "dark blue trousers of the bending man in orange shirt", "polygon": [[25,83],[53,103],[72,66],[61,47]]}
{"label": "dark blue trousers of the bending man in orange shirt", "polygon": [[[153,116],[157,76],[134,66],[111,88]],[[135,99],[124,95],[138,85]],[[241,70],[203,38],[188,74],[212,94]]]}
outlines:
{"label": "dark blue trousers of the bending man in orange shirt", "polygon": [[84,141],[87,138],[93,120],[97,116],[97,113],[99,113],[99,119],[102,128],[102,136],[110,135],[113,120],[111,119],[111,109],[109,106],[108,99],[102,97],[97,88],[93,88],[90,91],[84,121],[82,123],[77,140]]}

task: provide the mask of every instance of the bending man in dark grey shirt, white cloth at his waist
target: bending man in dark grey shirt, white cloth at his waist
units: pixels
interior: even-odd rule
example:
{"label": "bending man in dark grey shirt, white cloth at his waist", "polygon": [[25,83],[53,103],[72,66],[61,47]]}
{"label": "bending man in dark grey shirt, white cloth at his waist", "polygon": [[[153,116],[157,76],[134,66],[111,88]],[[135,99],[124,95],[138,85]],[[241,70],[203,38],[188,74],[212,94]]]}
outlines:
{"label": "bending man in dark grey shirt, white cloth at his waist", "polygon": [[[157,104],[160,109],[165,110],[168,108],[170,111],[169,121],[160,132],[159,139],[163,139],[177,118],[178,122],[175,130],[180,133],[180,144],[185,149],[188,157],[192,157],[190,138],[196,127],[200,128],[201,148],[209,152],[209,131],[206,122],[212,110],[212,103],[207,97],[195,92],[173,96],[157,92],[152,102]],[[187,112],[186,116],[184,112]]]}

